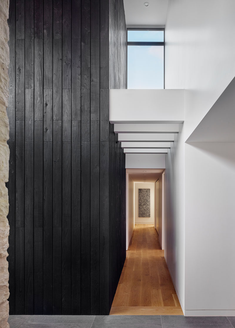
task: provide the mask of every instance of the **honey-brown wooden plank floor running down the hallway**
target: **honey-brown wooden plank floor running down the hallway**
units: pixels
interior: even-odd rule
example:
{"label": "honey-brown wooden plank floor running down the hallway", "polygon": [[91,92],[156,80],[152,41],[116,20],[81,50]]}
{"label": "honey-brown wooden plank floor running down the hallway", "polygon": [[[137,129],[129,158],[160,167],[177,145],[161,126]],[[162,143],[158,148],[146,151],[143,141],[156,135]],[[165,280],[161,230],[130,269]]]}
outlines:
{"label": "honey-brown wooden plank floor running down the hallway", "polygon": [[110,315],[183,315],[153,225],[135,225]]}

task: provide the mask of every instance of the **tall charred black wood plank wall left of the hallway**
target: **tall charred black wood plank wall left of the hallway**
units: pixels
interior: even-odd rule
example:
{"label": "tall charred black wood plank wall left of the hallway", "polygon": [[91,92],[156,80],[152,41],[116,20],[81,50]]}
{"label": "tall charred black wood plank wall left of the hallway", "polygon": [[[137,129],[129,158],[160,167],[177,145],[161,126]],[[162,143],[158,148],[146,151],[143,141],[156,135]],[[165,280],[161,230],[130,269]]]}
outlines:
{"label": "tall charred black wood plank wall left of the hallway", "polygon": [[10,314],[108,314],[125,259],[109,123],[109,87],[126,87],[123,3],[10,0],[9,28]]}

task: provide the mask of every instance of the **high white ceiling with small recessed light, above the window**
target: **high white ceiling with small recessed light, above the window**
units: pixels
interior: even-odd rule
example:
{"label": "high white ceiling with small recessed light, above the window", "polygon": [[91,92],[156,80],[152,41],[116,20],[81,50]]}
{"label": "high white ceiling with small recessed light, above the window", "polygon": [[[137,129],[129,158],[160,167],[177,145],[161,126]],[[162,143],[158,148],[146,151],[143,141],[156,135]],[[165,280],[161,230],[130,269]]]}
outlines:
{"label": "high white ceiling with small recessed light, above the window", "polygon": [[[165,26],[168,0],[124,0],[127,27]],[[145,7],[144,3],[149,6]]]}

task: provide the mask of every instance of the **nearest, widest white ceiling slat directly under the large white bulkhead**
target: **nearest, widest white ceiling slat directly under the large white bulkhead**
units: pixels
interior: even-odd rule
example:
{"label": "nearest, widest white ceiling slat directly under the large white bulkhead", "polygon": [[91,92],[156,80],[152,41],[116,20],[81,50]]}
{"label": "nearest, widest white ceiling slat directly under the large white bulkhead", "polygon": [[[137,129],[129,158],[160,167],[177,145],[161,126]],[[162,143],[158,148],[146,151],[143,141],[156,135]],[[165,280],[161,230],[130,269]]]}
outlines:
{"label": "nearest, widest white ceiling slat directly under the large white bulkhead", "polygon": [[114,124],[115,133],[178,133],[179,124]]}

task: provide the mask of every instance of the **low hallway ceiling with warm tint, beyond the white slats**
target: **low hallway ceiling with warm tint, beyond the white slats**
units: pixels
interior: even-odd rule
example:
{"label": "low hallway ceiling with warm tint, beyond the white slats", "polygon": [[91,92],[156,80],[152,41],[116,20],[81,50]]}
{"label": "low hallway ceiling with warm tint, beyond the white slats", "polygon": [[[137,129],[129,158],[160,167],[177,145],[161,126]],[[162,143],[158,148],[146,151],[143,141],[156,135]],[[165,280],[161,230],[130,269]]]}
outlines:
{"label": "low hallway ceiling with warm tint, beyond the white slats", "polygon": [[162,174],[163,169],[126,169],[134,182],[155,182]]}

